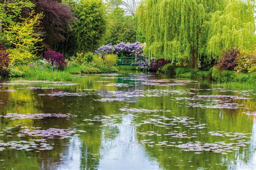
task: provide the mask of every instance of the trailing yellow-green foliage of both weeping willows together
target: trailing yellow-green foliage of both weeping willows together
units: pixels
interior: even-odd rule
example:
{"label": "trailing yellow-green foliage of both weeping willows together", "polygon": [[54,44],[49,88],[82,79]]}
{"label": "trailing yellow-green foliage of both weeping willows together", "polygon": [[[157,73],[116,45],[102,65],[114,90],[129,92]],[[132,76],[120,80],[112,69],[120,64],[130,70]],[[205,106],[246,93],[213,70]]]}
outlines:
{"label": "trailing yellow-green foliage of both weeping willows together", "polygon": [[196,69],[199,60],[217,60],[227,47],[250,48],[253,32],[252,5],[238,0],[145,0],[138,9],[146,55],[188,60]]}

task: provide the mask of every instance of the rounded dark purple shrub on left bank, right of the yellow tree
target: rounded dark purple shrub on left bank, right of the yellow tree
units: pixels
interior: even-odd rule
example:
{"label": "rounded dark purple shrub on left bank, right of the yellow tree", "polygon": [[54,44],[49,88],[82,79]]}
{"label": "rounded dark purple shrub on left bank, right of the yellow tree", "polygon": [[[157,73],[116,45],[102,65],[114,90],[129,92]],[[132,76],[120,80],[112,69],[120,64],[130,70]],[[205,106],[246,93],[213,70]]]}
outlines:
{"label": "rounded dark purple shrub on left bank, right of the yellow tree", "polygon": [[62,53],[55,52],[50,49],[44,52],[44,58],[51,64],[52,67],[57,66],[60,70],[63,70],[66,66],[66,61]]}

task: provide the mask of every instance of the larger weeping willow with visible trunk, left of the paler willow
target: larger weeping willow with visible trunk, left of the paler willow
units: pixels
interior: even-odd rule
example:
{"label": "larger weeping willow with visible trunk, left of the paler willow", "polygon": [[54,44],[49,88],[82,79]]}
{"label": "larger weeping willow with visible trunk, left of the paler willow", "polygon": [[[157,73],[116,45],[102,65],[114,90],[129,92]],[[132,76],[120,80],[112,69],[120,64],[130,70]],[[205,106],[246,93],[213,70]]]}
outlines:
{"label": "larger weeping willow with visible trunk, left of the paler willow", "polygon": [[[225,0],[143,1],[138,9],[138,32],[139,37],[145,38],[146,54],[149,57],[165,58],[173,62],[186,60],[190,62],[191,67],[198,68],[199,59],[211,59],[213,54],[216,55],[224,48],[216,47],[208,50],[207,46],[210,44],[217,46],[218,43],[216,40],[218,38],[214,35],[220,28],[217,28],[218,24],[214,24],[214,18],[218,16],[221,18],[225,13],[236,10],[228,8],[232,4],[230,2]],[[242,2],[239,4],[248,6]],[[248,13],[253,11],[248,10]],[[245,12],[246,17],[253,18],[251,14],[247,16],[248,13]],[[213,25],[216,29],[212,29]],[[252,31],[248,35],[252,36]]]}

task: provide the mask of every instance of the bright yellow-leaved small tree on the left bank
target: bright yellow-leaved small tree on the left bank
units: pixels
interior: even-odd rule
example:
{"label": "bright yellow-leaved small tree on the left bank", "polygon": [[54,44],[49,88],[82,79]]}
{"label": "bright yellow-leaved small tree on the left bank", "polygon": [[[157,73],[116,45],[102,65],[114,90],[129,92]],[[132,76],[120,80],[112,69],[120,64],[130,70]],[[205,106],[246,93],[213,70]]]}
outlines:
{"label": "bright yellow-leaved small tree on the left bank", "polygon": [[35,14],[34,11],[29,13],[28,18],[21,18],[23,22],[17,22],[4,28],[6,40],[11,44],[13,49],[8,49],[10,62],[14,65],[28,63],[31,59],[36,58],[36,52],[41,49],[37,43],[42,42],[42,33],[35,32],[42,13]]}

